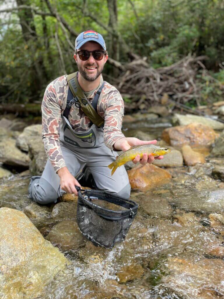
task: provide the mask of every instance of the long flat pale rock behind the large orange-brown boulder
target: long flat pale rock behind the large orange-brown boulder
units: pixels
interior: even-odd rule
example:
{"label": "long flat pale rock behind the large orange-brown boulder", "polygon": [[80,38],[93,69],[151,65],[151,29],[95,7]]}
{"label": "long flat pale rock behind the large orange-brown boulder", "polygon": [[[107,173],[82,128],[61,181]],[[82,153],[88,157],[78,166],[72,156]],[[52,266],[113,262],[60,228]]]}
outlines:
{"label": "long flat pale rock behind the large orange-brown boulder", "polygon": [[224,123],[221,123],[220,121],[203,117],[203,116],[193,115],[193,114],[182,115],[182,114],[175,113],[174,117],[172,118],[172,122],[175,125],[180,125],[180,126],[186,126],[191,123],[200,123],[202,125],[209,126],[214,130],[224,129]]}

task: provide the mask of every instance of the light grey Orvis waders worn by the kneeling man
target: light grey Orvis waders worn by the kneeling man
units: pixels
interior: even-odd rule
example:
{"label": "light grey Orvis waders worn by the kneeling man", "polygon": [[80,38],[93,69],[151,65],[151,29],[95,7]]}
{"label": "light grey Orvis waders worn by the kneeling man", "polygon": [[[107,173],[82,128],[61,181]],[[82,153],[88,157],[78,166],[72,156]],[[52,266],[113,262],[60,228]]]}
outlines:
{"label": "light grey Orvis waders worn by the kneeling man", "polygon": [[[70,90],[68,97],[70,96]],[[99,98],[99,97],[98,97]],[[68,114],[67,114],[68,115]],[[70,173],[78,179],[85,169],[84,176],[93,177],[96,189],[105,190],[124,198],[130,197],[131,186],[124,165],[119,167],[111,176],[107,167],[118,153],[105,146],[103,128],[92,124],[85,132],[76,132],[63,115],[60,132],[60,146],[65,164]],[[56,174],[50,160],[47,160],[42,176],[33,176],[29,184],[30,197],[39,204],[56,202],[61,194],[60,178]]]}

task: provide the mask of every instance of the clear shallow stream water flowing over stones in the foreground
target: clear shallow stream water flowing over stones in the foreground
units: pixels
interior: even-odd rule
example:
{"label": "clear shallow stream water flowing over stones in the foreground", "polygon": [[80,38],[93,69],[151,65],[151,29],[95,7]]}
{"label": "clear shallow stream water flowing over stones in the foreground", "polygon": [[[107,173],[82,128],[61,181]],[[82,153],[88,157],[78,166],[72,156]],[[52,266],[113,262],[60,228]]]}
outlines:
{"label": "clear shallow stream water flowing over stones in the foreground", "polygon": [[[155,125],[148,132],[159,137],[162,129]],[[32,203],[29,177],[1,180],[0,207],[25,210],[70,260],[50,282],[41,282],[42,295],[36,299],[223,298],[224,183],[211,177],[223,160],[206,159],[203,165],[167,168],[172,175],[167,184],[133,190],[138,213],[125,241],[112,249],[96,247],[82,236],[66,239],[76,219],[75,202],[37,205],[30,211],[25,208]],[[53,234],[56,225],[60,230]]]}

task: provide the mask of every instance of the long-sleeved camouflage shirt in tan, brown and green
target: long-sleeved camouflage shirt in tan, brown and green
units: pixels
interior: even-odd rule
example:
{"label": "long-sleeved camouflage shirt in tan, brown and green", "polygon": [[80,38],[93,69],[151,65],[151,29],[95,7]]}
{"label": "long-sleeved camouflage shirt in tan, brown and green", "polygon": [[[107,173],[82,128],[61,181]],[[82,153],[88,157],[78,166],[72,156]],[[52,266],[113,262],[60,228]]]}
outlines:
{"label": "long-sleeved camouflage shirt in tan, brown and green", "polygon": [[[102,83],[103,78],[101,75],[99,87]],[[93,94],[88,96],[90,103],[93,101],[99,87],[94,90]],[[59,137],[62,115],[67,103],[67,94],[67,75],[64,75],[47,86],[42,101],[42,139],[47,156],[56,172],[66,166],[60,148]],[[119,91],[107,82],[105,82],[100,94],[97,112],[105,120],[104,142],[107,147],[113,149],[113,144],[118,139],[125,137],[121,132],[124,102]],[[90,128],[89,118],[75,105],[70,109],[68,120],[77,132],[85,132]]]}

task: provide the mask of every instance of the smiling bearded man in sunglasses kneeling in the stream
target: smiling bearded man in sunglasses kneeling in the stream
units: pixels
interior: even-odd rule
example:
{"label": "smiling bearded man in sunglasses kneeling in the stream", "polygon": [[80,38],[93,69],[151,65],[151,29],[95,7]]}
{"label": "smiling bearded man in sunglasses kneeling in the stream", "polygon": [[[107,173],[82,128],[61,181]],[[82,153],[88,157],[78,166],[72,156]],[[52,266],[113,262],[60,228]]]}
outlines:
{"label": "smiling bearded man in sunglasses kneeling in the stream", "polygon": [[[80,184],[75,177],[84,168],[91,173],[99,190],[128,198],[131,187],[125,167],[119,167],[112,177],[107,166],[116,159],[116,151],[157,142],[125,138],[122,134],[122,97],[114,86],[103,81],[101,75],[108,60],[102,35],[94,30],[82,32],[76,38],[75,48],[74,59],[79,70],[77,84],[90,103],[104,82],[97,103],[97,113],[104,119],[104,127],[91,123],[76,104],[71,106],[66,117],[67,99],[71,94],[67,75],[47,86],[42,102],[42,138],[49,159],[42,176],[32,177],[29,185],[31,198],[40,204],[56,202],[58,191],[77,195],[75,185]],[[133,162],[136,164],[139,160],[137,156]],[[154,157],[145,153],[140,163],[153,161]]]}

